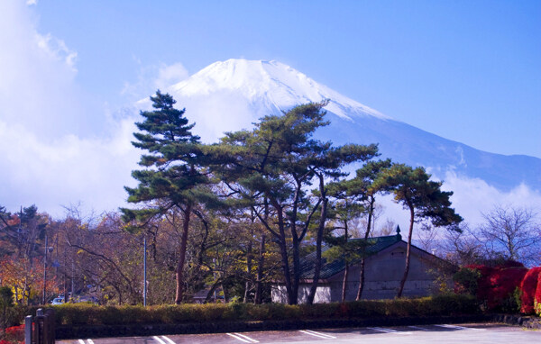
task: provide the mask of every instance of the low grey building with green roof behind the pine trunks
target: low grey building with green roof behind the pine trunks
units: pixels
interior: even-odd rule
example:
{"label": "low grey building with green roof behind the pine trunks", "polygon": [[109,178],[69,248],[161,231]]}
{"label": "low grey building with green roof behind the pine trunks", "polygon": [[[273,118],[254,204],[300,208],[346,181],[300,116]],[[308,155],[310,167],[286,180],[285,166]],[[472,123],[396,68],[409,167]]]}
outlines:
{"label": "low grey building with green roof behind the pine trunks", "polygon": [[[379,300],[394,298],[399,289],[400,279],[406,266],[406,249],[408,243],[402,240],[397,227],[397,234],[383,237],[360,240],[360,247],[364,249],[365,282],[362,299]],[[365,241],[364,243],[361,241]],[[315,303],[340,302],[344,283],[344,258],[328,258],[323,248],[323,265],[316,290]],[[346,301],[353,301],[357,296],[361,276],[361,257],[349,263],[349,274],[346,281]],[[301,259],[301,281],[298,288],[298,302],[305,303],[312,285],[314,268],[316,265],[316,252],[308,254]],[[411,262],[408,280],[404,287],[403,296],[420,297],[435,294],[442,283],[452,285],[451,275],[456,267],[434,254],[411,246]],[[286,288],[283,283],[273,285],[272,302],[287,303]]]}

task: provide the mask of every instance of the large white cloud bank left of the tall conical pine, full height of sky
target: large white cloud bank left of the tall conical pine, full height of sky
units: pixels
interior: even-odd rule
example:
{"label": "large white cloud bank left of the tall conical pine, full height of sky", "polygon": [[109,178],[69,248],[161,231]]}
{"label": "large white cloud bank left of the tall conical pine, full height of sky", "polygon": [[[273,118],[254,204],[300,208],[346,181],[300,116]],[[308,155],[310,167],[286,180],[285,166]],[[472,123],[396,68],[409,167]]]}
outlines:
{"label": "large white cloud bank left of the tall conical pine, full height of sky", "polygon": [[34,9],[0,1],[0,205],[111,210],[140,152],[129,115],[107,113],[77,83],[77,52],[38,32]]}

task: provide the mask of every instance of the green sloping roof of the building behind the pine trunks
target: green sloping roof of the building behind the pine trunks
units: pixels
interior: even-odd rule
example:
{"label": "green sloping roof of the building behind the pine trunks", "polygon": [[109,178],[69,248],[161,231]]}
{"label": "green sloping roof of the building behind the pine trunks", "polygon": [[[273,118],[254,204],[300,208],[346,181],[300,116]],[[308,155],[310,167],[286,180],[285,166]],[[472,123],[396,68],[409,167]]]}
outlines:
{"label": "green sloping roof of the building behind the pine trunks", "polygon": [[[350,239],[353,240],[364,240],[364,239]],[[375,253],[380,252],[383,249],[387,249],[391,245],[402,240],[400,234],[390,235],[387,237],[376,237],[368,238],[366,247],[367,256],[371,256]],[[325,252],[329,249],[328,246],[322,248],[322,252]],[[335,276],[337,273],[341,272],[345,268],[344,259],[335,259],[333,261],[327,262],[327,258],[321,258],[323,264],[321,266],[321,273],[319,278],[326,279],[331,276]],[[356,264],[360,261],[353,261],[350,265]],[[300,278],[301,279],[312,279],[314,277],[314,268],[316,266],[316,252],[312,252],[307,255],[305,258],[300,259]]]}

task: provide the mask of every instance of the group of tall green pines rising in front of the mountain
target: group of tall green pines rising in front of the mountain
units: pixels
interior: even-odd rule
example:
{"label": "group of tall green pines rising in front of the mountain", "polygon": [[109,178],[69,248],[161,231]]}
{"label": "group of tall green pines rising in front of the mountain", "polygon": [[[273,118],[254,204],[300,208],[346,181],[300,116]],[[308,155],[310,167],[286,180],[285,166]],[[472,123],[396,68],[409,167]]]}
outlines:
{"label": "group of tall green pines rising in front of the mountain", "polygon": [[[134,133],[133,146],[144,151],[139,163],[144,168],[133,171],[139,186],[126,187],[128,202],[144,206],[124,208],[122,212],[132,230],[143,228],[171,209],[183,215],[175,303],[183,300],[190,218],[208,210],[250,213],[253,221],[261,224],[279,250],[280,280],[289,304],[298,303],[302,248],[310,238],[316,249],[316,267],[307,303],[313,303],[329,200],[338,196],[329,194],[330,188],[350,183],[344,167],[378,157],[377,145],[336,147],[330,141],[316,140],[316,130],[329,123],[323,110],[326,101],[267,115],[254,123],[252,130],[227,132],[219,143],[210,145],[201,143],[192,133],[195,124],[188,123],[184,111],[174,107],[172,96],[158,91],[151,101],[154,111],[141,113],[144,121],[136,123],[140,131]],[[369,193],[372,197],[378,192],[390,193],[410,213],[400,297],[408,277],[414,222],[426,219],[457,230],[462,218],[450,207],[453,193],[442,191],[441,182],[430,181],[424,168],[390,161],[381,162],[380,167],[368,176],[372,180],[362,180],[366,192],[358,188],[356,193],[361,199]],[[360,181],[357,177],[353,180]],[[346,190],[344,196],[351,194]],[[364,207],[359,210],[363,212]]]}

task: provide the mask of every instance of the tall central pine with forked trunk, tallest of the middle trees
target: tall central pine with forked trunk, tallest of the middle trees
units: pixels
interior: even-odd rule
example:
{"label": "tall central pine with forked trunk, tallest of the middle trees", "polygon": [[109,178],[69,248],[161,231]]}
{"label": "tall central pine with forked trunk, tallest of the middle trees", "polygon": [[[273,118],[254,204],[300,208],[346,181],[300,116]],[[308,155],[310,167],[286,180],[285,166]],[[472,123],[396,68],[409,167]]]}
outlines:
{"label": "tall central pine with forked trunk, tallest of the middle trees", "polygon": [[[225,158],[215,172],[248,202],[280,248],[290,304],[298,302],[300,243],[319,205],[309,209],[307,186],[314,177],[309,158],[316,141],[311,137],[327,124],[323,106],[305,104],[283,115],[265,116],[252,131],[227,133],[215,147],[215,156]],[[268,201],[272,217],[257,211],[256,204],[263,199]]]}

